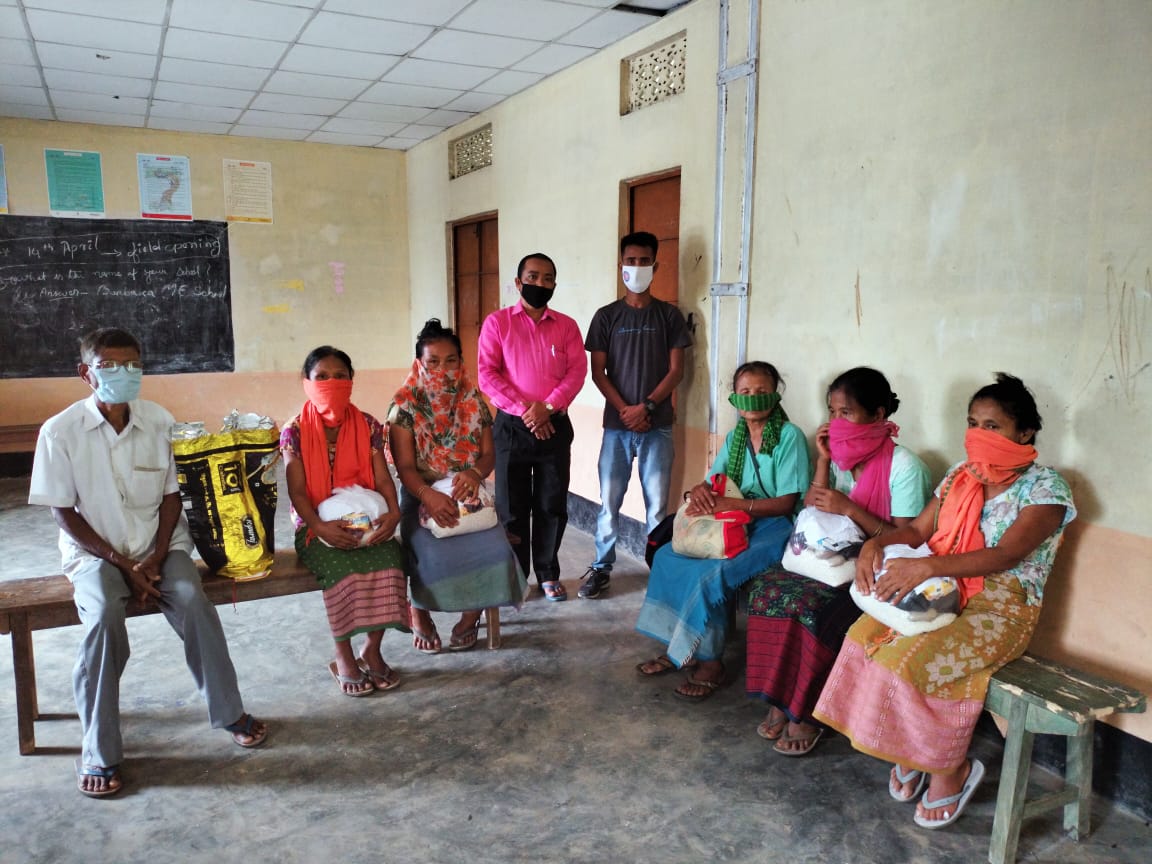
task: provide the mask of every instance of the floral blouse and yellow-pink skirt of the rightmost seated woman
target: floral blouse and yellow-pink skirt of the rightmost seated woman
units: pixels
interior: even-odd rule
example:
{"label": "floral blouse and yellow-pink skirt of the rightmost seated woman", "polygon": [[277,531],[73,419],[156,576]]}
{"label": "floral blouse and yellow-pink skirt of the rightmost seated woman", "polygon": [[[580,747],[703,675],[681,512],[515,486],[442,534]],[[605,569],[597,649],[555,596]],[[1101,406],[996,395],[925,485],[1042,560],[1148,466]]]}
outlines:
{"label": "floral blouse and yellow-pink skirt of the rightmost seated woman", "polygon": [[[948,476],[958,469],[954,465]],[[937,487],[938,497],[947,482]],[[1064,507],[1060,526],[1016,567],[986,576],[984,590],[953,623],[919,636],[894,636],[862,615],[840,649],[816,719],[847,735],[857,750],[886,761],[930,773],[960,767],[988,681],[1028,647],[1044,583],[1076,508],[1064,479],[1033,464],[986,501],[980,515],[991,547],[1032,505]]]}

